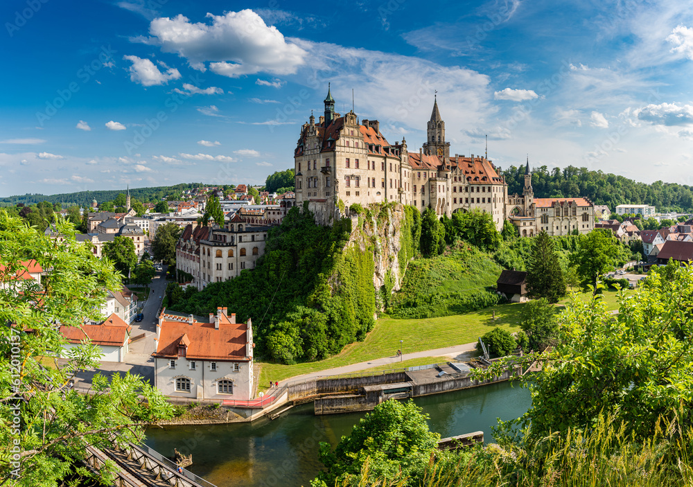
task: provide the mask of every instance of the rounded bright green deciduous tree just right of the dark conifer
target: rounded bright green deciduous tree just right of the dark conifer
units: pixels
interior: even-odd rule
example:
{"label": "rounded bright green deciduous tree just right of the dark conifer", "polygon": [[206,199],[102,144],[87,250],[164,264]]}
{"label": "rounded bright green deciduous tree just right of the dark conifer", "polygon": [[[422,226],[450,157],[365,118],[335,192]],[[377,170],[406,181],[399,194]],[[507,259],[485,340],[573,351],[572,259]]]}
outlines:
{"label": "rounded bright green deciduous tree just right of the dark conifer", "polygon": [[570,254],[570,263],[577,267],[577,274],[585,289],[593,287],[597,293],[597,279],[613,271],[621,254],[620,244],[608,229],[595,229],[581,236],[577,251]]}

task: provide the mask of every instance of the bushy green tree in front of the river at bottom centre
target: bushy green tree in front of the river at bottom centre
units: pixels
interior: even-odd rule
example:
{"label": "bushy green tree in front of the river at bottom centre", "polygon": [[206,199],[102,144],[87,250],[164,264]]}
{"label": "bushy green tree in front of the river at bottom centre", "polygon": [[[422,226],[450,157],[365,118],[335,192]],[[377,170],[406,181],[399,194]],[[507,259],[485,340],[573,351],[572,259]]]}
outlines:
{"label": "bushy green tree in front of the river at bottom centre", "polygon": [[353,427],[351,435],[342,436],[334,452],[329,443],[320,443],[320,461],[326,471],[318,474],[313,486],[358,484],[367,461],[369,484],[387,477],[419,485],[440,439],[430,432],[427,420],[428,414],[413,400],[381,402]]}

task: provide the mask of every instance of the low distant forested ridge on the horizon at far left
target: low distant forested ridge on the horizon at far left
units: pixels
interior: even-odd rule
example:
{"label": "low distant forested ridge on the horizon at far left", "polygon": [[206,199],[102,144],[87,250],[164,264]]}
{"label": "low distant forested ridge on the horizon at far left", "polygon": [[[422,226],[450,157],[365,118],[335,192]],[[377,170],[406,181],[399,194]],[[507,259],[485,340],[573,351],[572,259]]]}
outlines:
{"label": "low distant forested ridge on the horizon at far left", "polygon": [[[161,198],[170,197],[171,200],[180,198],[181,193],[186,189],[205,186],[202,183],[182,183],[175,186],[157,186],[155,188],[130,188],[130,196],[134,200],[143,203],[155,203]],[[216,185],[218,186],[218,185]],[[0,206],[14,206],[17,203],[24,203],[26,206],[40,202],[63,203],[63,207],[76,204],[77,206],[89,206],[93,200],[99,203],[115,200],[119,193],[125,193],[125,188],[110,191],[80,191],[79,193],[61,193],[59,195],[26,194],[0,198]]]}

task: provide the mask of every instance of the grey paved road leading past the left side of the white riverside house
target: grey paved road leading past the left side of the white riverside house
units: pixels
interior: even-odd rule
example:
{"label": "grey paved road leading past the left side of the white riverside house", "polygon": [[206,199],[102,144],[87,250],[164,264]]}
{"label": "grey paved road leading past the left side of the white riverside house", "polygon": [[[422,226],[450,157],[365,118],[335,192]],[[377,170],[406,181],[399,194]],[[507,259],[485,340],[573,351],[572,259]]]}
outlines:
{"label": "grey paved road leading past the left side of the white riverside house", "polygon": [[153,363],[151,354],[154,351],[154,339],[157,336],[158,313],[159,309],[161,309],[161,301],[164,299],[167,284],[166,266],[164,266],[164,270],[157,272],[149,286],[151,289],[149,299],[142,310],[144,318],[139,323],[137,321],[132,323],[130,336],[136,337],[146,333],[146,337],[135,340],[130,344],[130,353],[125,355],[126,361],[136,364]]}

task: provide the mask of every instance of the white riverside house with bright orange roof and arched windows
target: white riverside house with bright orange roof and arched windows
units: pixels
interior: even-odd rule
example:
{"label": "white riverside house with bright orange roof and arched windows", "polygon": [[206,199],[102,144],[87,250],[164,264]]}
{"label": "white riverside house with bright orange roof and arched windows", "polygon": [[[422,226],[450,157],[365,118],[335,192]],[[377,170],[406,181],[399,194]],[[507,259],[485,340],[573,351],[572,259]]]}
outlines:
{"label": "white riverside house with bright orange roof and arched windows", "polygon": [[173,398],[248,400],[254,393],[252,323],[227,308],[209,321],[163,310],[157,325],[155,386]]}

